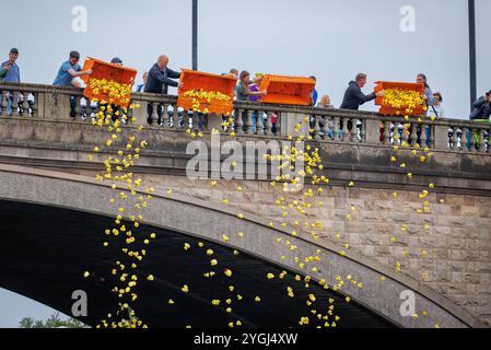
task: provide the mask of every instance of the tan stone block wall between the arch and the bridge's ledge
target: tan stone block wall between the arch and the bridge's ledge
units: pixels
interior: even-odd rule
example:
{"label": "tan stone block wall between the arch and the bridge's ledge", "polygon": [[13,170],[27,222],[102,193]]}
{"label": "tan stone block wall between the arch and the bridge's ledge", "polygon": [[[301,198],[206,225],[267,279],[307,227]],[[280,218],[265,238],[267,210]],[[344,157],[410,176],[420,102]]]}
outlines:
{"label": "tan stone block wall between the arch and the bridge's ledge", "polygon": [[[313,206],[305,217],[290,210],[283,219],[276,201],[281,197],[285,202],[300,201],[302,194],[284,194],[265,182],[218,182],[212,188],[208,180],[190,182],[183,176],[148,175],[143,179],[147,186],[172,188],[210,202],[227,199],[229,206],[241,212],[276,222],[295,225],[297,221],[299,228],[305,221],[322,222],[324,230],[316,231],[322,240],[348,244],[391,268],[400,262],[400,273],[422,281],[491,326],[490,197],[431,194],[425,198],[430,212],[418,214],[420,192],[398,191],[396,199],[390,190],[325,187],[322,195],[308,200],[322,201],[324,207]],[[192,218],[183,213],[183,220]]]}

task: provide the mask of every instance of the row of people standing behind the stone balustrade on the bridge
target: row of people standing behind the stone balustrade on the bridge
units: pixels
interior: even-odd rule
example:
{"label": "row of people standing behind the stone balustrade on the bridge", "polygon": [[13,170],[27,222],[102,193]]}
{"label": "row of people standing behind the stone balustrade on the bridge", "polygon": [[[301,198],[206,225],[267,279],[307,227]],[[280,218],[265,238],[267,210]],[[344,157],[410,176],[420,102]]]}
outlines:
{"label": "row of people standing behind the stone balustrade on the bridge", "polygon": [[[13,82],[13,83],[20,83],[21,82],[21,69],[17,66],[16,61],[19,59],[19,49],[12,48],[9,52],[9,59],[0,65],[0,81],[3,82]],[[78,82],[77,78],[83,77],[83,75],[90,75],[92,74],[92,70],[82,70],[82,67],[79,65],[80,62],[80,54],[78,51],[71,51],[69,54],[68,60],[61,63],[61,67],[58,70],[58,73],[54,80],[54,85],[57,86],[66,86],[66,88],[81,88],[81,84]],[[114,65],[122,66],[122,60],[118,57],[115,57],[110,60]],[[144,92],[144,93],[154,93],[154,94],[167,94],[168,88],[182,88],[182,83],[178,81],[180,78],[180,73],[177,71],[172,70],[168,68],[169,59],[166,55],[161,55],[156,62],[151,67],[151,69],[143,73],[142,77],[142,83],[138,84],[135,88],[136,92]],[[238,80],[236,89],[235,89],[235,100],[236,101],[248,101],[248,102],[260,102],[261,97],[266,95],[267,91],[261,91],[260,85],[262,82],[262,73],[256,73],[254,75],[254,79],[250,78],[250,73],[247,71],[238,72],[236,69],[231,69],[229,73],[225,73],[223,75],[231,75]],[[315,77],[311,77],[315,79]],[[348,84],[348,88],[344,92],[342,103],[340,105],[340,109],[351,109],[351,110],[358,110],[360,106],[363,104],[371,102],[375,100],[376,97],[384,96],[384,92],[372,92],[367,95],[365,95],[362,91],[362,89],[366,84],[366,74],[359,73],[354,81],[350,81]],[[426,116],[434,117],[434,118],[443,118],[445,116],[445,112],[443,108],[443,96],[440,92],[432,92],[432,89],[430,88],[428,83],[428,79],[425,74],[418,74],[416,79],[417,83],[424,84],[424,101],[426,104]],[[2,101],[2,93],[0,91],[0,101]],[[22,102],[24,100],[23,94],[17,93],[16,96],[14,96],[11,92],[5,92],[7,94],[7,114],[12,114],[12,105],[14,98],[17,100],[16,108],[22,109]],[[311,105],[317,106],[319,108],[334,108],[334,105],[331,103],[331,100],[328,95],[323,95],[320,100],[318,98],[319,94],[316,89],[313,89],[311,92]],[[319,100],[319,101],[318,101]],[[30,104],[32,101],[28,101]],[[74,118],[74,106],[75,106],[75,98],[71,98],[71,117]],[[192,127],[192,120],[195,117],[195,113],[192,110],[189,112],[183,112],[177,110],[176,113],[174,110],[169,110],[168,115],[168,124],[171,127],[174,126],[174,115],[177,114],[178,116],[178,126],[182,127],[184,124],[184,113],[188,113],[189,115],[189,127]],[[154,114],[154,105],[149,104],[148,106],[148,122],[149,125],[153,124],[153,114]],[[203,125],[207,122],[207,115],[203,115],[202,113],[197,113],[198,115],[198,125],[201,129]],[[159,126],[163,125],[163,116],[164,116],[164,106],[162,104],[156,105],[156,122]],[[491,91],[486,93],[483,96],[479,97],[474,103],[474,108],[469,115],[469,119],[471,120],[489,120],[491,116]],[[245,121],[246,115],[243,115],[242,118]],[[259,115],[259,113],[255,112],[253,113],[253,132],[257,132],[258,125],[262,125],[265,127],[266,124],[266,115]],[[223,117],[224,120],[227,119],[225,116]],[[235,120],[237,116],[234,116]],[[258,122],[259,120],[259,122]],[[276,124],[278,121],[278,116],[272,115],[271,122],[273,126],[273,132],[276,132]],[[351,122],[351,121],[350,121]],[[312,120],[312,124],[314,124],[314,120]],[[328,132],[327,137],[331,139],[340,139],[340,136],[335,135],[335,128],[332,125],[332,120],[325,120],[325,124],[328,125]],[[322,124],[322,130],[325,130],[324,127],[325,124]],[[245,128],[245,122],[244,122]],[[342,126],[339,126],[338,132],[342,129]],[[360,137],[360,129],[361,129],[361,122],[356,125],[356,129],[359,132],[356,132],[356,137]],[[396,131],[397,129],[397,131]],[[348,130],[352,130],[352,125],[348,125]],[[401,136],[404,129],[401,125],[391,125],[390,126],[390,139],[394,140],[396,132],[399,132]],[[324,132],[324,131],[322,131]],[[418,139],[420,139],[421,133],[426,132],[426,142],[430,140],[431,136],[431,129],[428,127],[425,130],[422,130],[421,127],[418,128],[417,135]],[[448,130],[449,138],[453,139],[453,133],[451,132],[457,132],[457,139],[461,140],[461,130]],[[460,136],[458,136],[460,133]],[[461,142],[461,141],[458,141]],[[461,147],[461,145],[459,145]]]}

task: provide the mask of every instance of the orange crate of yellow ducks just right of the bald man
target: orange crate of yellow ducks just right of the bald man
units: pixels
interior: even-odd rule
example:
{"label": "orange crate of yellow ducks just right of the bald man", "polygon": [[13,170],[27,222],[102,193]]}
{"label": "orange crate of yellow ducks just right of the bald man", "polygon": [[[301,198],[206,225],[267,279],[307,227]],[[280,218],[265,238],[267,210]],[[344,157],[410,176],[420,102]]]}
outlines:
{"label": "orange crate of yellow ducks just right of the bald man", "polygon": [[226,115],[232,114],[234,110],[234,93],[237,84],[237,79],[226,75],[218,75],[206,72],[198,72],[188,69],[182,69],[180,82],[183,88],[178,91],[177,105],[185,109],[192,109],[195,105],[194,100],[196,97],[185,97],[184,94],[188,91],[203,90],[206,92],[220,92],[227,95],[230,101],[215,101],[208,102],[204,98],[196,98],[199,102],[199,109],[203,112],[208,109],[210,114]]}

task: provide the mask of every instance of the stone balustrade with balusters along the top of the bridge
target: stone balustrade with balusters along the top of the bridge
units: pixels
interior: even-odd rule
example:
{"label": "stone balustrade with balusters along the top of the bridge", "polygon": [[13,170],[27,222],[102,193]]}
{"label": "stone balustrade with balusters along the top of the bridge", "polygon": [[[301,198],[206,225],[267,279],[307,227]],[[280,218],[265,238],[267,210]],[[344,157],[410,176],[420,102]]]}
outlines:
{"label": "stone balustrade with balusters along the top of the bridge", "polygon": [[[0,83],[2,118],[28,117],[33,119],[67,119],[91,122],[91,116],[100,110],[97,103],[83,97],[81,89],[38,84]],[[138,124],[148,124],[149,114],[153,127],[178,129],[192,127],[211,131],[222,129],[226,117],[194,116],[177,106],[177,97],[159,94],[133,94],[133,103],[140,108],[129,112]],[[162,110],[162,122],[157,125]],[[303,135],[315,140],[346,144],[394,145],[407,142],[434,150],[489,153],[491,124],[458,119],[386,117],[376,113],[352,112],[332,108],[271,105],[235,102],[231,116],[238,136],[288,137]],[[299,132],[295,132],[295,129]]]}

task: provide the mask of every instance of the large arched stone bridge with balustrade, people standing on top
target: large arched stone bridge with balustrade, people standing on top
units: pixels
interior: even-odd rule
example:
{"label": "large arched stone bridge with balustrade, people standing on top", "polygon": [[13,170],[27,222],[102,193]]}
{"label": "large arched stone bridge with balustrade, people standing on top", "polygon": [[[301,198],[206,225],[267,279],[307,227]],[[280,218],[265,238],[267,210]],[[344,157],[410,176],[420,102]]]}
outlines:
{"label": "large arched stone bridge with balustrade, people standing on top", "polygon": [[[86,290],[89,295],[96,295],[90,306],[93,313],[86,320],[94,325],[112,302],[107,285],[101,281],[106,279],[104,272],[109,269],[113,256],[104,255],[102,242],[104,228],[116,213],[108,202],[109,184],[95,180],[95,174],[104,168],[98,161],[108,154],[101,154],[95,162],[87,162],[87,155],[95,145],[105,143],[107,135],[92,127],[87,107],[91,104],[83,101],[80,104],[80,91],[31,84],[2,84],[0,90],[34,97],[31,100],[34,102],[24,98],[23,113],[14,105],[12,116],[7,116],[5,100],[2,101],[0,212],[7,229],[2,230],[0,248],[5,257],[0,287],[66,313],[70,313],[71,291]],[[69,118],[70,96],[78,101],[74,120]],[[149,103],[161,103],[165,110],[169,106],[176,108],[173,96],[135,94],[133,100],[141,104],[133,112],[138,122],[147,119]],[[257,125],[259,135],[252,130],[254,112],[266,116],[266,122]],[[274,135],[272,113],[279,116]],[[85,114],[87,118],[83,120]],[[314,116],[313,130],[304,127],[302,132],[313,136],[307,144],[322,151],[324,170],[318,175],[330,179],[315,198],[324,206],[309,210],[307,218],[293,212],[283,218],[277,201],[301,200],[302,194],[283,192],[272,187],[270,180],[257,178],[219,180],[215,187],[210,187],[206,179],[191,180],[186,176],[186,165],[192,155],[186,153],[189,136],[185,129],[165,124],[140,132],[139,138],[145,139],[150,147],[142,151],[133,171],[147,186],[157,189],[144,220],[145,228],[159,233],[154,257],[143,267],[155,275],[155,283],[143,289],[147,298],[140,302],[150,325],[227,324],[224,312],[218,313],[211,306],[212,299],[225,299],[226,291],[219,290],[217,284],[225,285],[226,290],[226,280],[217,284],[202,281],[202,272],[209,269],[203,256],[191,254],[188,264],[180,264],[186,259],[183,253],[186,242],[194,249],[197,242],[206,242],[221,252],[226,266],[237,271],[236,284],[244,296],[261,296],[260,306],[249,301],[234,310],[234,316],[252,327],[294,326],[308,313],[302,299],[308,292],[304,288],[301,292],[299,284],[295,287],[297,282],[292,278],[295,273],[311,275],[315,281],[324,279],[330,287],[347,276],[363,283],[363,288],[358,288],[346,281],[338,291],[311,287],[320,300],[339,301],[336,308],[341,316],[340,326],[343,320],[347,327],[491,324],[489,125],[456,119],[409,121],[413,133],[404,139],[410,147],[398,152],[398,159],[407,164],[402,170],[390,160],[394,139],[388,131],[390,125],[399,124],[397,117],[248,103],[237,103],[236,115],[246,117],[244,129],[238,118],[241,128],[234,139],[239,142],[287,140],[305,116]],[[168,117],[166,113],[165,118]],[[209,130],[220,128],[217,119],[221,118],[210,118]],[[334,139],[323,132],[328,131],[326,120],[334,120]],[[352,121],[351,130],[348,121]],[[356,129],[360,124],[361,129]],[[385,129],[381,130],[381,125]],[[417,150],[418,125],[432,130],[428,142],[433,156],[424,163],[411,154]],[[125,126],[124,135],[135,133],[136,128]],[[451,140],[449,129],[455,131]],[[457,130],[463,133],[461,140],[457,140]],[[203,131],[203,142],[210,142],[210,133]],[[224,133],[221,137],[232,139]],[[460,149],[456,147],[458,141]],[[420,142],[426,142],[424,132]],[[412,178],[407,176],[409,171]],[[254,178],[256,174],[248,175]],[[354,186],[349,185],[351,182]],[[418,213],[423,206],[421,191],[429,190],[429,184],[434,184],[425,197],[430,210]],[[318,186],[308,188],[316,191]],[[238,213],[244,219],[238,219]],[[312,238],[305,221],[323,223],[320,240]],[[244,232],[245,236],[241,238],[237,232]],[[231,240],[223,242],[223,234]],[[391,241],[394,236],[397,242]],[[283,244],[285,241],[297,246],[297,252],[291,252]],[[242,253],[239,258],[233,256],[233,249]],[[316,272],[309,273],[308,264],[301,268],[294,259],[316,255],[317,250],[322,261]],[[395,270],[396,264],[400,265],[400,271]],[[85,270],[95,271],[90,281],[81,278]],[[289,271],[288,278],[266,279],[268,272],[278,276],[282,270]],[[191,293],[188,299],[179,298],[179,288],[186,282],[191,283]],[[299,296],[293,300],[285,292],[290,285],[299,289]],[[404,302],[401,292],[407,290],[416,293],[418,317],[405,317],[399,312]],[[343,302],[346,296],[352,302]],[[178,312],[169,310],[165,302],[171,298],[176,305],[180,301],[186,306],[177,308]],[[159,302],[162,308],[155,311]]]}

